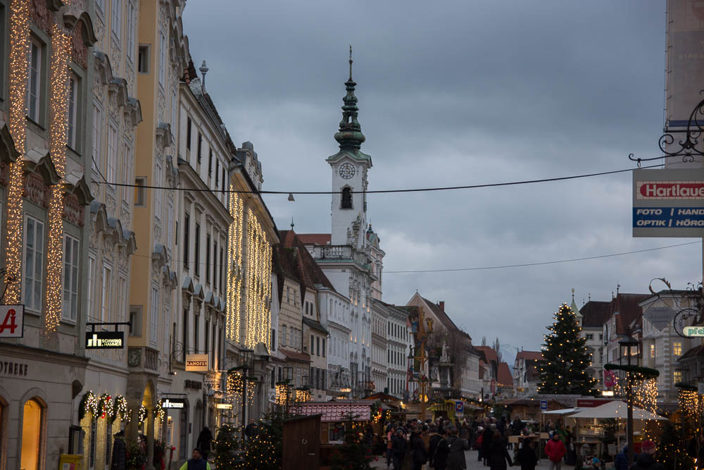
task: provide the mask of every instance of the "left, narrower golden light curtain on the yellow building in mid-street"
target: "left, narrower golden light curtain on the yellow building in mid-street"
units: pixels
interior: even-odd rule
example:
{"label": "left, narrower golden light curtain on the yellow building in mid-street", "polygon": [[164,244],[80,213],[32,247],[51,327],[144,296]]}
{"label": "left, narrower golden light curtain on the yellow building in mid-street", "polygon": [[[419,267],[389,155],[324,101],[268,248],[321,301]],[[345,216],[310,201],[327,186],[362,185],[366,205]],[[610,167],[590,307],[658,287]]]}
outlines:
{"label": "left, narrower golden light curtain on the yellow building in mid-street", "polygon": [[[234,186],[230,185],[234,191]],[[240,342],[240,306],[242,276],[242,218],[244,201],[236,192],[230,192],[230,216],[232,223],[228,233],[227,242],[227,326],[225,328],[227,339]]]}

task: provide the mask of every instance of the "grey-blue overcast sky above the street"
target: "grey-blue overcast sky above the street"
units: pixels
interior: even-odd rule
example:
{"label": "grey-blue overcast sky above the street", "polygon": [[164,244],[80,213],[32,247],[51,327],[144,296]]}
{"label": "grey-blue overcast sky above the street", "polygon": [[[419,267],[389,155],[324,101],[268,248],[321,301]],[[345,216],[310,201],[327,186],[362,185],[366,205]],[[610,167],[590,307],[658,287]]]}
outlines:
{"label": "grey-blue overcast sky above the street", "polygon": [[[265,190],[330,190],[348,44],[370,190],[470,185],[631,167],[658,155],[665,1],[189,0],[196,68],[230,134],[250,140]],[[691,239],[631,237],[631,175],[453,192],[371,194],[385,271],[596,256]],[[329,196],[266,197],[279,229],[329,232]],[[548,266],[387,273],[504,358],[539,348],[561,302],[701,279],[701,247]]]}

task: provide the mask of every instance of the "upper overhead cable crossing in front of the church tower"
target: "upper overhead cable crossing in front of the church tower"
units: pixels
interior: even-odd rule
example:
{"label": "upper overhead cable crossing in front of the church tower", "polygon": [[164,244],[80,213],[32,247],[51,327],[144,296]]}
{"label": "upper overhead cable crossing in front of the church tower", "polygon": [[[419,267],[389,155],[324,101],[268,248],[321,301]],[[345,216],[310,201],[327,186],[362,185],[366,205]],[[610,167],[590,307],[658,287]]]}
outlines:
{"label": "upper overhead cable crossing in front of the church tower", "polygon": [[[645,168],[660,168],[662,165],[650,165],[642,166],[641,168],[624,168],[623,170],[612,170],[612,171],[600,171],[598,173],[586,173],[584,175],[572,175],[572,176],[558,176],[556,178],[541,178],[539,180],[522,180],[522,181],[509,181],[507,183],[484,183],[481,185],[463,185],[463,186],[441,186],[441,187],[415,187],[406,188],[401,190],[372,190],[372,191],[359,191],[364,194],[382,194],[382,193],[394,193],[394,192],[429,192],[429,191],[452,191],[452,190],[472,190],[480,187],[500,187],[500,186],[516,186],[516,185],[530,185],[534,183],[550,183],[552,181],[565,181],[565,180],[576,180],[578,178],[591,178],[593,176],[603,176],[603,175],[614,175],[616,173],[626,173],[634,170],[645,169]],[[133,185],[130,183],[108,183],[107,181],[98,181],[101,185],[113,185],[121,187],[139,187],[148,190],[177,190],[177,191],[190,191],[190,192],[225,192],[225,193],[238,193],[238,194],[341,194],[341,191],[253,191],[253,190],[211,190],[209,188],[187,188],[187,187],[168,187],[168,186],[156,186],[156,185]]]}

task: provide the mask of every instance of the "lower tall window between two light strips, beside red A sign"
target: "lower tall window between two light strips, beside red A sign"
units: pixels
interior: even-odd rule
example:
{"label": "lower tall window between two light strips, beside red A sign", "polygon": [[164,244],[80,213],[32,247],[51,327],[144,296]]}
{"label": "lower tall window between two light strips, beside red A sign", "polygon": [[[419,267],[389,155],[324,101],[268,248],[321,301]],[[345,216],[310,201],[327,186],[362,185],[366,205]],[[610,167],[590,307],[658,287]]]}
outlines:
{"label": "lower tall window between two light strips, beside red A sign", "polygon": [[27,216],[25,225],[25,307],[42,310],[42,261],[44,260],[44,222]]}

